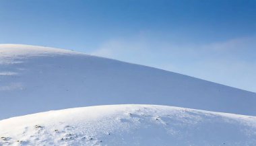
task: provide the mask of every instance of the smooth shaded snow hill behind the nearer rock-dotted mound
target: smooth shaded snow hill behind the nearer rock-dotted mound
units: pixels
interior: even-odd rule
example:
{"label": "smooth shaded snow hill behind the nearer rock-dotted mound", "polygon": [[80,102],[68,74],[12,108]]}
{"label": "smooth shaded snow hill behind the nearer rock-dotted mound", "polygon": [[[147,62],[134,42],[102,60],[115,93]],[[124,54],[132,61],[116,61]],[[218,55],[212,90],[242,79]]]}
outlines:
{"label": "smooth shaded snow hill behind the nearer rock-dotted mound", "polygon": [[160,104],[256,115],[256,94],[71,50],[0,45],[0,119],[103,104]]}

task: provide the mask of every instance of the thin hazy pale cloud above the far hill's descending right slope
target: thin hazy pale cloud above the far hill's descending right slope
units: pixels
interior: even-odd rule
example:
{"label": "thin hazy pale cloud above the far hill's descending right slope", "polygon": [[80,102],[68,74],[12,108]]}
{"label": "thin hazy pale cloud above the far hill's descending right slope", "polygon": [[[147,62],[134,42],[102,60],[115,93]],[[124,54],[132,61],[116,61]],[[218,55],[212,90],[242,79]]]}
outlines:
{"label": "thin hazy pale cloud above the far hill's descending right slope", "polygon": [[[141,37],[140,37],[141,38]],[[148,65],[256,92],[255,38],[173,44],[145,37],[113,39],[91,54]]]}

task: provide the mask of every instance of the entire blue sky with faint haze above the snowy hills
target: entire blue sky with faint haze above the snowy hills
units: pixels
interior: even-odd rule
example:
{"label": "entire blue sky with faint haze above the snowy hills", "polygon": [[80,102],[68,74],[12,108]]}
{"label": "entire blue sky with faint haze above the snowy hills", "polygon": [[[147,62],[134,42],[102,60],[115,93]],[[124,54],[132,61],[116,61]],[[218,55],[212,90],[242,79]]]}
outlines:
{"label": "entire blue sky with faint haze above the snowy hills", "polygon": [[255,0],[0,0],[0,43],[68,48],[256,92]]}

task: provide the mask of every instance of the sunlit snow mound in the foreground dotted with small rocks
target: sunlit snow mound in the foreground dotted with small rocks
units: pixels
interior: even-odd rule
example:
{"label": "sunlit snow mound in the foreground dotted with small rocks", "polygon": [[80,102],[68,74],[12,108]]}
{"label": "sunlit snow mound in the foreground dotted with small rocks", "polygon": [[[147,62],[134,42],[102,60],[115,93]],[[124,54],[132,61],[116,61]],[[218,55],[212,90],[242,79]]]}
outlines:
{"label": "sunlit snow mound in the foreground dotted with small rocks", "polygon": [[71,108],[0,120],[0,145],[256,145],[256,117],[151,105]]}

